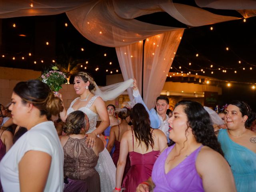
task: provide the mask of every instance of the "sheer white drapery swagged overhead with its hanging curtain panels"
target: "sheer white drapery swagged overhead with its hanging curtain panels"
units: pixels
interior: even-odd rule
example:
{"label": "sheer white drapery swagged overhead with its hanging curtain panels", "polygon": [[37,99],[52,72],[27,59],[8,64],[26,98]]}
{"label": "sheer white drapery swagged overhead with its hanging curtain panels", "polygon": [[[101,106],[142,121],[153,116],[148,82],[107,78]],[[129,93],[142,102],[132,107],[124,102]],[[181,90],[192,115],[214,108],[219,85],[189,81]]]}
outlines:
{"label": "sheer white drapery swagged overhead with its hanging curtain panels", "polygon": [[[237,10],[245,18],[256,16],[254,0],[195,0],[195,2],[199,7]],[[154,25],[134,18],[155,12],[167,12],[187,26],[203,26],[239,19],[213,14],[194,6],[173,3],[172,0],[0,1],[0,18],[52,15],[63,12],[66,12],[70,22],[85,38],[96,44],[116,48],[124,79],[135,77],[140,91],[143,53],[142,43],[139,41],[148,38],[149,41],[146,40],[144,47],[143,93],[149,108],[154,106],[154,100],[160,94],[184,29]],[[132,99],[131,91],[128,92]]]}

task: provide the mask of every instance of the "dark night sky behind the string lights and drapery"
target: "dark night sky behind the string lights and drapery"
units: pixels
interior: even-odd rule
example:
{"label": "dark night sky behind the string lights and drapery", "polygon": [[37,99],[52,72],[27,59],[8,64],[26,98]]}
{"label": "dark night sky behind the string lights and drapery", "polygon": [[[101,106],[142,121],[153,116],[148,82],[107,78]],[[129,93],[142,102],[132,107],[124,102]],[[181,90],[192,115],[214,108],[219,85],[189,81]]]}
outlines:
{"label": "dark night sky behind the string lights and drapery", "polygon": [[[207,9],[213,13],[216,10]],[[218,10],[218,14],[241,17],[236,11]],[[161,19],[164,18],[164,19]],[[165,26],[187,27],[165,12],[137,18],[140,21]],[[12,25],[16,24],[14,28]],[[64,24],[67,23],[68,27]],[[210,27],[213,30],[210,30]],[[204,76],[220,80],[256,83],[255,44],[256,18],[223,22],[202,27],[186,28],[174,58],[170,72],[196,72],[204,69]],[[25,34],[24,36],[19,36]],[[46,46],[46,41],[50,44]],[[226,50],[226,47],[229,50]],[[84,51],[81,51],[84,48]],[[31,52],[32,56],[28,56]],[[104,53],[107,56],[104,56]],[[196,54],[199,54],[196,57]],[[56,16],[36,16],[2,19],[2,44],[0,47],[0,66],[44,70],[56,60],[67,67],[68,60],[74,66],[80,64],[94,76],[99,85],[106,83],[105,76],[113,71],[120,73],[115,48],[96,45],[84,38],[69,22],[66,14]],[[2,55],[5,55],[2,58]],[[15,60],[12,58],[15,56]],[[24,56],[24,60],[22,60]],[[37,61],[34,64],[34,61]],[[44,63],[40,61],[44,60]],[[88,64],[85,62],[88,61]],[[239,64],[238,61],[241,61]],[[109,63],[112,62],[112,65]],[[191,66],[189,63],[191,62]],[[211,68],[210,66],[213,65]],[[182,69],[179,69],[179,66]],[[95,68],[99,68],[96,72]],[[252,67],[252,70],[250,70]],[[218,70],[221,68],[221,70]],[[242,68],[245,68],[243,70]],[[108,72],[106,70],[108,69]],[[223,73],[222,70],[227,70]],[[118,72],[116,72],[118,70]],[[237,73],[234,73],[234,71]],[[211,74],[211,72],[214,74]],[[170,80],[169,78],[167,80]],[[220,104],[232,99],[240,99],[254,106],[254,92],[248,84],[233,84],[231,88],[223,86]]]}

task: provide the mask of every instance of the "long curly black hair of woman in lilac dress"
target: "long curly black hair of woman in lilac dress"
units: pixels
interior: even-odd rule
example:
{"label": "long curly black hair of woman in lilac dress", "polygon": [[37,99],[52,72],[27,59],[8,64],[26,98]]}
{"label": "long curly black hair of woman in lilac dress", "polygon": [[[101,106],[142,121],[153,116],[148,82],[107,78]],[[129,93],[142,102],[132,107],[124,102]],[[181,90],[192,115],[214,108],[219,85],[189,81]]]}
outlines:
{"label": "long curly black hair of woman in lilac dress", "polygon": [[210,115],[204,107],[195,101],[182,100],[175,105],[174,109],[179,105],[184,106],[183,109],[196,142],[202,143],[204,146],[208,146],[224,156],[220,143],[214,134]]}

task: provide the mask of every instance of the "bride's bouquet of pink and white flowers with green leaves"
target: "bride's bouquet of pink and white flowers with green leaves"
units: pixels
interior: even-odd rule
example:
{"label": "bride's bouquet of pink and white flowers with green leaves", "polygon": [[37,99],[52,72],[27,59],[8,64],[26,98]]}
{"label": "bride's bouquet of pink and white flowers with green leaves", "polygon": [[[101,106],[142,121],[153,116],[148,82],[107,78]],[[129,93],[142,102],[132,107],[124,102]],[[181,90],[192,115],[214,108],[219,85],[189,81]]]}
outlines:
{"label": "bride's bouquet of pink and white flowers with green leaves", "polygon": [[46,83],[54,92],[58,92],[62,88],[62,84],[67,82],[66,75],[58,70],[56,66],[52,66],[52,70],[44,71],[42,76],[39,77],[39,79]]}

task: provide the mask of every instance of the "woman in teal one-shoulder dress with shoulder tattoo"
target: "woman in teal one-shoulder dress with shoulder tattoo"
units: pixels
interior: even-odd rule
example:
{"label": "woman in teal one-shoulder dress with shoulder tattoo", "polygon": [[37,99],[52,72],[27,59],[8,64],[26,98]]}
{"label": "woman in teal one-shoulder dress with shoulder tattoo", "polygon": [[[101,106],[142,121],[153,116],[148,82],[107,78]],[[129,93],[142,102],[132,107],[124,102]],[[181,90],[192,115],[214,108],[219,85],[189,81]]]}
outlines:
{"label": "woman in teal one-shoulder dress with shoulder tattoo", "polygon": [[256,133],[247,129],[255,113],[245,102],[233,101],[227,109],[225,123],[218,141],[230,164],[238,192],[256,191]]}

